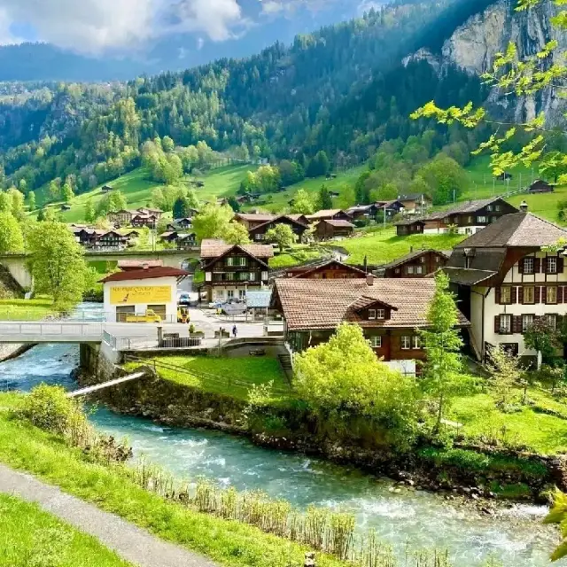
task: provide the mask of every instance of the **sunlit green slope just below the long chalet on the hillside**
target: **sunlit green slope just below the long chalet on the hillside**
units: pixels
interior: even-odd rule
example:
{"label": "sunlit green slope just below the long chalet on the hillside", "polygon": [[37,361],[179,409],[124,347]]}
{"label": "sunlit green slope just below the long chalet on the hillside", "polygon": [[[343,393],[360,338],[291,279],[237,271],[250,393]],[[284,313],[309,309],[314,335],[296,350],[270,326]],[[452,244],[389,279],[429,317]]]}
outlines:
{"label": "sunlit green slope just below the long chalet on the hillside", "polygon": [[421,248],[432,248],[433,250],[451,250],[464,239],[463,235],[412,235],[410,237],[398,237],[393,228],[380,229],[369,234],[361,234],[359,237],[346,238],[337,243],[350,253],[349,264],[362,264],[364,258],[369,264],[385,264],[396,260],[411,251]]}

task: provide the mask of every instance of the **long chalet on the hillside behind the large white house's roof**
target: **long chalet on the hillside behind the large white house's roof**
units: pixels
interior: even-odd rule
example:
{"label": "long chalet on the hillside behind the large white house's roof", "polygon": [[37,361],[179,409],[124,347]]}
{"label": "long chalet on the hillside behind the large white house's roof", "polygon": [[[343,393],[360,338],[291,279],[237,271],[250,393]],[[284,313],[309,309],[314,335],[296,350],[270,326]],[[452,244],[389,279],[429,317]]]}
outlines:
{"label": "long chalet on the hillside behind the large white house's roof", "polygon": [[[428,214],[415,222],[423,222],[423,234],[444,234],[455,231],[458,234],[470,235],[498,221],[501,216],[512,213],[517,213],[517,208],[503,198],[485,198],[459,203],[443,211]],[[411,225],[406,226],[411,227]]]}

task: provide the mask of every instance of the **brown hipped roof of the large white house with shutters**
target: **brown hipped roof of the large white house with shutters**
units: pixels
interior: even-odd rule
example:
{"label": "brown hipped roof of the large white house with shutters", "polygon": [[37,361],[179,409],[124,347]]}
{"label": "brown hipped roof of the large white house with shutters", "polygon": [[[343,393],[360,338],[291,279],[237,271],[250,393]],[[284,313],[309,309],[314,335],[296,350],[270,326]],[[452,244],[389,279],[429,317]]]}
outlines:
{"label": "brown hipped roof of the large white house with shutters", "polygon": [[555,245],[567,239],[567,230],[531,213],[504,214],[485,229],[463,240],[455,248],[537,247]]}

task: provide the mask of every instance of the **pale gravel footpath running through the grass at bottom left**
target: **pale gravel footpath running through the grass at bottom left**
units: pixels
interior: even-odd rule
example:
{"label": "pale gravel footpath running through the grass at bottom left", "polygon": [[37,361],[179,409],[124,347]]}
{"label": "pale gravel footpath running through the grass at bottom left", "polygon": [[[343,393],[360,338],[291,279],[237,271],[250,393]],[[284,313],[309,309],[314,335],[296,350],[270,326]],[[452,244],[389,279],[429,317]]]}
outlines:
{"label": "pale gravel footpath running through the grass at bottom left", "polygon": [[139,567],[216,567],[205,557],[159,540],[114,514],[62,492],[57,486],[47,485],[3,464],[0,464],[0,492],[36,502],[45,511],[96,537]]}

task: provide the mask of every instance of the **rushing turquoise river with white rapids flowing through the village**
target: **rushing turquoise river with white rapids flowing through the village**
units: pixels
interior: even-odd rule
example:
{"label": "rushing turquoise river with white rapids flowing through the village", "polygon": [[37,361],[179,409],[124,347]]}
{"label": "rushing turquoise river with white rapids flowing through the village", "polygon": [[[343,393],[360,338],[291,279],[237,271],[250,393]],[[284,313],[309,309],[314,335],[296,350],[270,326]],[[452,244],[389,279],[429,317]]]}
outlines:
{"label": "rushing turquoise river with white rapids flowing through the village", "polygon": [[[0,390],[27,391],[36,384],[63,384],[78,364],[78,346],[36,346],[18,359],[0,364]],[[555,528],[540,525],[544,507],[516,505],[487,517],[440,496],[404,490],[391,493],[392,482],[299,454],[253,446],[247,439],[218,431],[162,427],[148,420],[99,408],[91,416],[103,431],[127,437],[135,454],[146,454],[183,479],[205,476],[238,489],[262,489],[299,508],[308,504],[352,510],[362,528],[373,526],[401,551],[447,548],[455,567],[477,567],[488,557],[506,567],[548,564],[557,542]]]}

